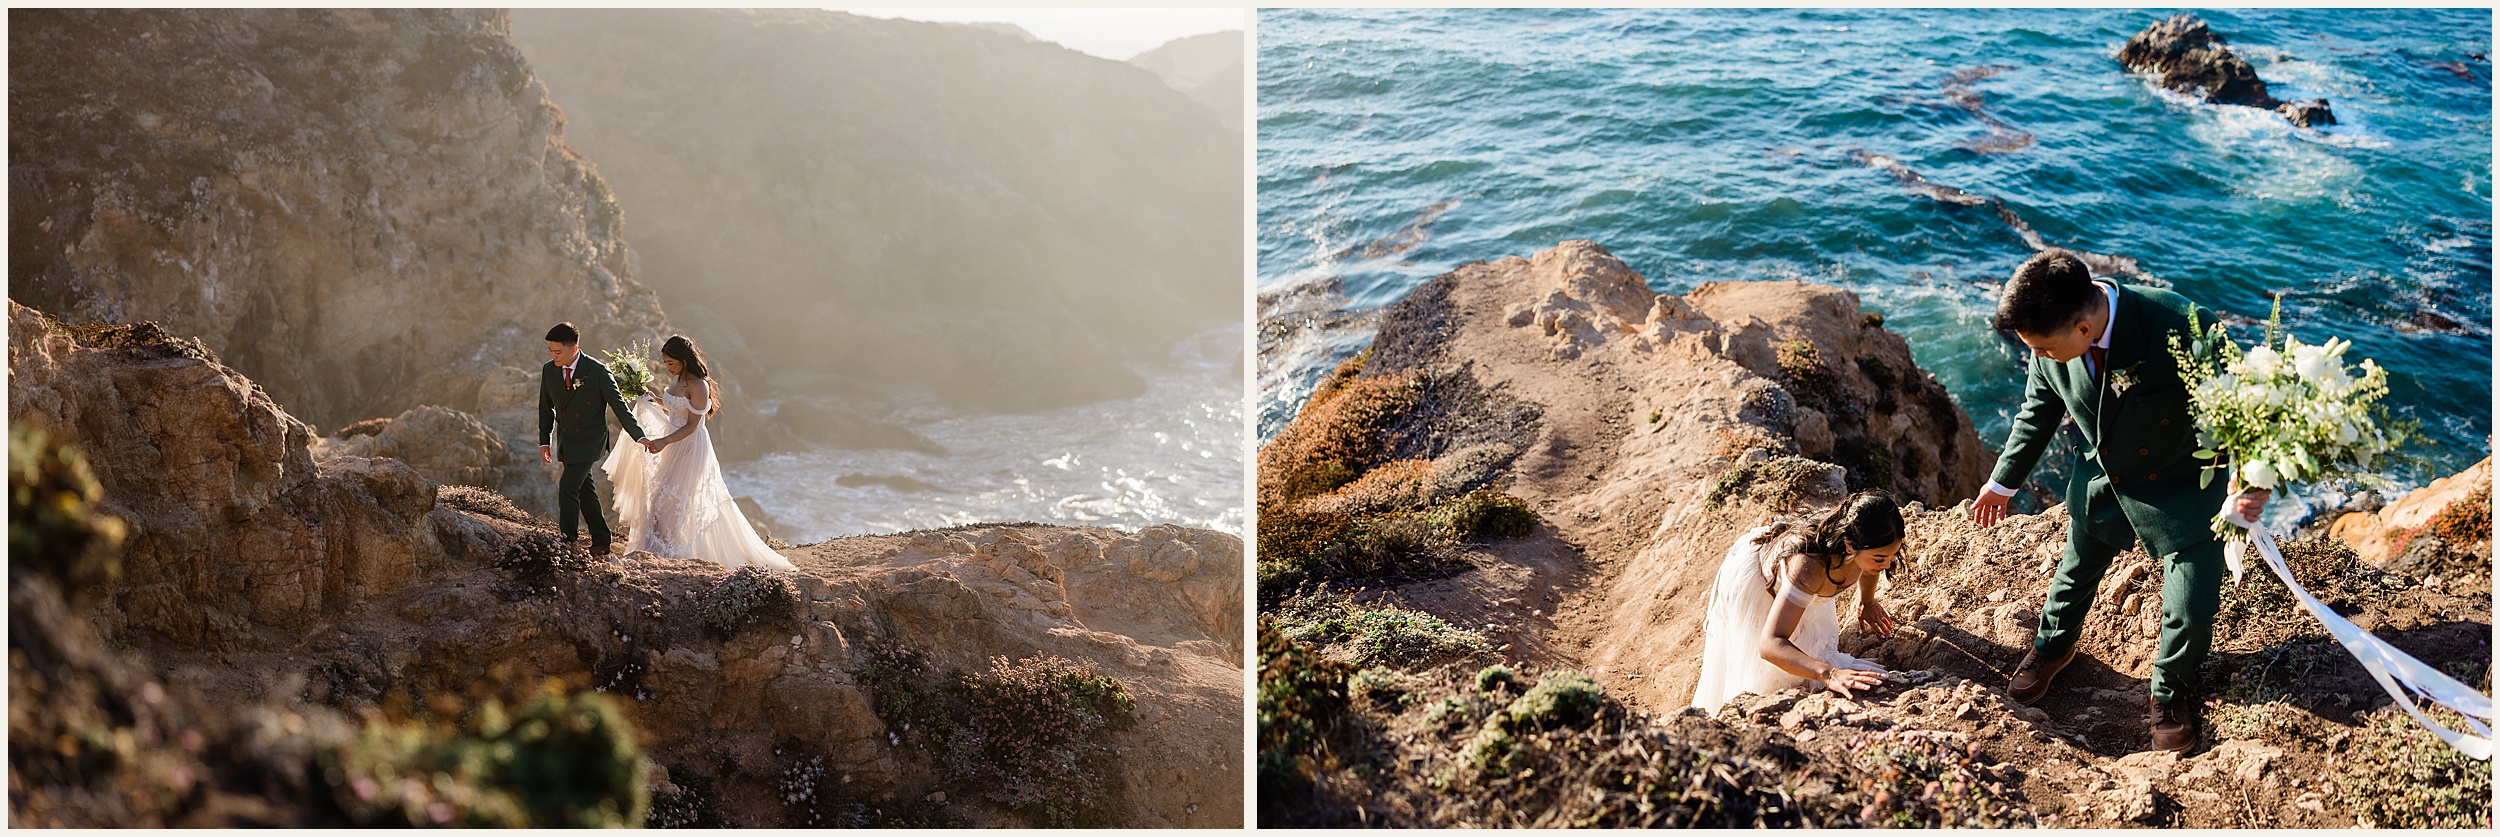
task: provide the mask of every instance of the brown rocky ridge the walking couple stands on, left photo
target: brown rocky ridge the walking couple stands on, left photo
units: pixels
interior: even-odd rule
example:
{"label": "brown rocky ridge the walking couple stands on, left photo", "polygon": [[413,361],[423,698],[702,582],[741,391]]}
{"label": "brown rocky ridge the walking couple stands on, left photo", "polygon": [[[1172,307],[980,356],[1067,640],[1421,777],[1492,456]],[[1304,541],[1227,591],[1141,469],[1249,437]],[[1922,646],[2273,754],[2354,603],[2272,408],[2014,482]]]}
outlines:
{"label": "brown rocky ridge the walking couple stands on, left photo", "polygon": [[[15,305],[10,422],[48,427],[92,462],[98,510],[128,540],[80,630],[140,652],[148,672],[130,677],[195,695],[185,707],[460,715],[480,690],[558,682],[620,697],[632,740],[668,767],[655,810],[690,822],[865,825],[902,810],[1048,822],[1032,787],[1045,802],[1055,787],[1092,787],[1088,810],[1108,825],[1238,822],[1230,535],[1002,525],[855,537],[788,550],[802,570],[790,577],[648,555],[568,560],[542,520],[495,492],[445,487],[398,460],[315,462],[305,425],[195,340],[155,325],[68,327]],[[895,660],[920,675],[895,675]],[[1018,672],[1080,670],[1132,702],[1092,742],[1105,745],[1082,762],[1092,772],[978,775],[900,725],[920,717],[915,705],[978,710],[1000,682],[1025,682]],[[12,705],[70,712],[78,695]],[[318,785],[308,795],[330,797]],[[330,822],[255,817],[240,822]]]}

